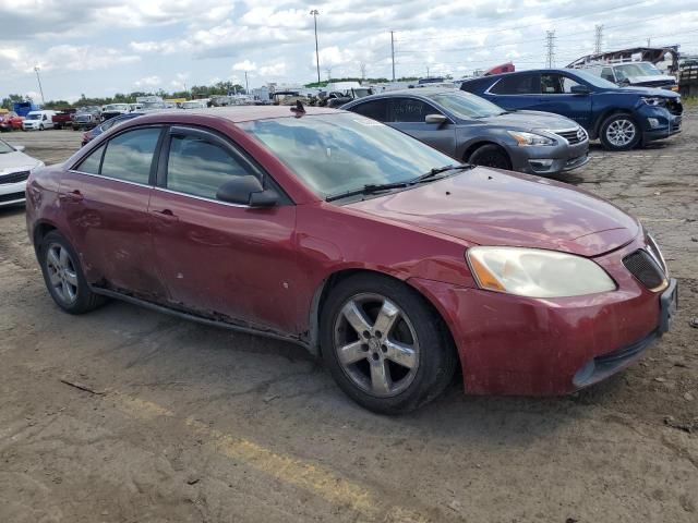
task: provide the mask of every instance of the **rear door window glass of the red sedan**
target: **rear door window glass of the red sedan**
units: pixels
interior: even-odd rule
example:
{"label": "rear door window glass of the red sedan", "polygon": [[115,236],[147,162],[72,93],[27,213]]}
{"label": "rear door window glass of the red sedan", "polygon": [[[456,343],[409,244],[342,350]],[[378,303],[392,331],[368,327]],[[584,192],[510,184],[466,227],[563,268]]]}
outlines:
{"label": "rear door window glass of the red sedan", "polygon": [[159,136],[158,127],[136,129],[115,136],[107,144],[100,174],[147,184]]}

